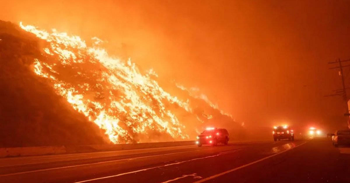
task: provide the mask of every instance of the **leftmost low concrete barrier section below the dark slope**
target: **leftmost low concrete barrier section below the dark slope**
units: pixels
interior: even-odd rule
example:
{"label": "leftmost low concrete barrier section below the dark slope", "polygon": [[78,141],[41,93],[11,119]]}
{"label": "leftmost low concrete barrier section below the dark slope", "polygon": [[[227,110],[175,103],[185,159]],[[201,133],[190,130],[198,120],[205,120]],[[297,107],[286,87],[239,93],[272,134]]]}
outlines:
{"label": "leftmost low concrete barrier section below the dark slope", "polygon": [[0,157],[18,157],[66,153],[64,146],[9,147],[0,148]]}

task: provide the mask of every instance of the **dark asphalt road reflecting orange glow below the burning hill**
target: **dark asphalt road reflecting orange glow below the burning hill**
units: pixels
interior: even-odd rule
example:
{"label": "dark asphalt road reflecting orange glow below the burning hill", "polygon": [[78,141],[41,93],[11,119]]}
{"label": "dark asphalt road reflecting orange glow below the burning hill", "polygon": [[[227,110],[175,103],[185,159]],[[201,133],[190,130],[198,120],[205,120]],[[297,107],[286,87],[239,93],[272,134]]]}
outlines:
{"label": "dark asphalt road reflecting orange glow below the burning hill", "polygon": [[0,159],[0,182],[350,182],[350,147],[329,139]]}

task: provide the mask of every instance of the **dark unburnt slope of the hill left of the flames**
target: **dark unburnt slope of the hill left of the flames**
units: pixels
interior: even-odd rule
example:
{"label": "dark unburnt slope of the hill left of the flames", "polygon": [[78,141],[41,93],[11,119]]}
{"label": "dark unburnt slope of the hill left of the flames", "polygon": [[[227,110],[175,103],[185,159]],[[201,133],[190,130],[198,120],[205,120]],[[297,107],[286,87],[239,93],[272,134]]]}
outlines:
{"label": "dark unburnt slope of the hill left of the flames", "polygon": [[40,41],[0,21],[0,147],[108,143],[103,130],[35,75]]}

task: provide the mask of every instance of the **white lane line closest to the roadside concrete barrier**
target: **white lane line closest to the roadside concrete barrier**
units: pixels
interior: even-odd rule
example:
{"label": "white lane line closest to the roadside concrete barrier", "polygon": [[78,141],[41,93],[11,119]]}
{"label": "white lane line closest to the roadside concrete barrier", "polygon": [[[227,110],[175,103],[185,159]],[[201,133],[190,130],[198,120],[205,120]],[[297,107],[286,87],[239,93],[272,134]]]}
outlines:
{"label": "white lane line closest to the roadside concrete barrier", "polygon": [[[204,149],[194,150],[194,151],[201,151],[201,150],[204,150]],[[87,166],[87,165],[97,165],[97,164],[111,163],[111,162],[117,162],[117,161],[135,160],[135,159],[141,159],[141,158],[151,158],[151,157],[157,157],[157,156],[163,156],[163,155],[180,154],[180,153],[187,153],[187,152],[194,152],[194,151],[183,151],[183,152],[175,152],[175,153],[167,153],[167,154],[157,154],[157,155],[149,155],[149,156],[142,156],[142,157],[135,157],[135,158],[126,158],[126,159],[111,160],[111,161],[101,161],[101,162],[96,162],[96,163],[86,163],[86,164],[72,165],[72,166],[65,166],[65,167],[56,167],[56,168],[47,168],[47,169],[40,169],[40,170],[22,171],[22,172],[17,172],[17,173],[2,174],[2,175],[0,175],[0,177],[10,176],[10,175],[27,174],[27,173],[33,173],[33,172],[38,172],[38,171],[57,170],[57,169],[71,168],[71,167],[80,167],[80,166]]]}

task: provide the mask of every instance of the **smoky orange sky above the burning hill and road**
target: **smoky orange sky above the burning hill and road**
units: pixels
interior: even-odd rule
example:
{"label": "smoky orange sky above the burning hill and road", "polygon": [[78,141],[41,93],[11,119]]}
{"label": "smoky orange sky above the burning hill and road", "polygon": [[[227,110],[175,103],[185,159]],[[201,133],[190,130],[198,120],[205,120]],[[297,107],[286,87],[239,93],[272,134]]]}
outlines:
{"label": "smoky orange sky above the burning hill and road", "polygon": [[350,58],[349,1],[1,4],[1,20],[108,40],[110,53],[154,68],[161,83],[199,87],[246,124],[346,125],[341,98],[323,96],[341,88],[327,63]]}

